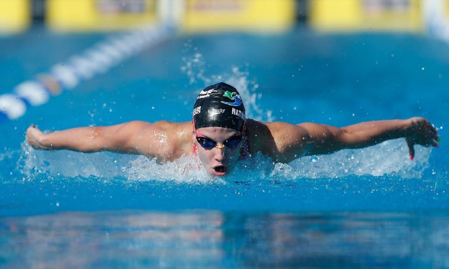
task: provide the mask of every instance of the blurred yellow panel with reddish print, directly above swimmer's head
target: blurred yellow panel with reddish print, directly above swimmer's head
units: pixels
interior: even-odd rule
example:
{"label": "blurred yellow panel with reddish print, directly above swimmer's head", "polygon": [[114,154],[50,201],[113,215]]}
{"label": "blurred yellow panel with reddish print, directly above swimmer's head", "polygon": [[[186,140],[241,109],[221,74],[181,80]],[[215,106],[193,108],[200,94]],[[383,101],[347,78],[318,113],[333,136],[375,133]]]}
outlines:
{"label": "blurred yellow panel with reddish print, directly above swimmer's head", "polygon": [[294,21],[294,0],[186,0],[182,28],[278,31]]}

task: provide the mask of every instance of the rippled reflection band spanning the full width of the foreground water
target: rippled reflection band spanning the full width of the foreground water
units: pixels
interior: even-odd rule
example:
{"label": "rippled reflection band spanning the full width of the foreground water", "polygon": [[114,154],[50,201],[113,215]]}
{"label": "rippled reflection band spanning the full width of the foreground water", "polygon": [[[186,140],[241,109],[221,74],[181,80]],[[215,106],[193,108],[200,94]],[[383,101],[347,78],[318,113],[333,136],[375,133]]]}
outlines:
{"label": "rippled reflection band spanning the full width of the foreground water", "polygon": [[411,213],[66,212],[0,218],[8,268],[441,268],[449,217]]}

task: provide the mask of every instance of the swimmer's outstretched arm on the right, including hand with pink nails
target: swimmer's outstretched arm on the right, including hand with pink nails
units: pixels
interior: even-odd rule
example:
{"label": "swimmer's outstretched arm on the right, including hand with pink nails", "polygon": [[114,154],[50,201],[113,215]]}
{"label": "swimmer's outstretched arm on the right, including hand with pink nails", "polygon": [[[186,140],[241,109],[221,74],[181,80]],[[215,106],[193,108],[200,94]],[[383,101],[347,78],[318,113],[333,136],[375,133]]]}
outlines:
{"label": "swimmer's outstretched arm on the right, including hand with pink nails", "polygon": [[[405,138],[410,158],[414,145],[438,147],[435,127],[422,117],[407,120],[367,121],[338,128],[316,123],[267,124],[275,150],[270,155],[278,161],[292,161],[304,155],[328,154],[345,148],[365,148],[389,139]],[[266,149],[267,151],[269,149]]]}

